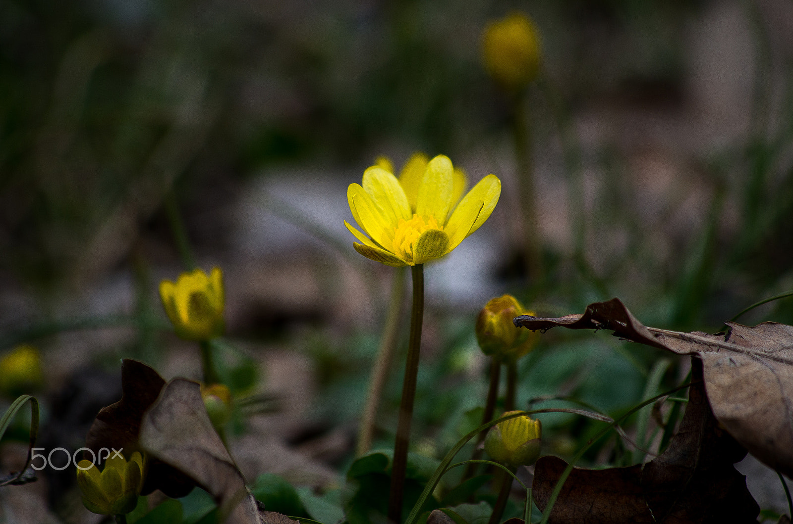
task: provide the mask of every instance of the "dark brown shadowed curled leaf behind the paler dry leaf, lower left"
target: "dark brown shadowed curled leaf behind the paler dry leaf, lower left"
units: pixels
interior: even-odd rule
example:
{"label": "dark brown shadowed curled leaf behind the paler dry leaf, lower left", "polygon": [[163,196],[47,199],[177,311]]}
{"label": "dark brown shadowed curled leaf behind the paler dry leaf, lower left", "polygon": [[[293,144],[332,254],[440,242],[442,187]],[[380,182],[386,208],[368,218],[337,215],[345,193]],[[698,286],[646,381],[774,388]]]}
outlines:
{"label": "dark brown shadowed curled leaf behind the paler dry leaf, lower left", "polygon": [[[151,367],[137,360],[124,359],[121,363],[121,401],[102,408],[86,435],[86,447],[94,452],[94,456],[98,456],[102,448],[123,450],[127,457],[141,450],[138,443],[140,422],[164,385],[163,378]],[[142,494],[159,489],[178,499],[190,493],[194,486],[189,477],[152,458],[148,461]]]}

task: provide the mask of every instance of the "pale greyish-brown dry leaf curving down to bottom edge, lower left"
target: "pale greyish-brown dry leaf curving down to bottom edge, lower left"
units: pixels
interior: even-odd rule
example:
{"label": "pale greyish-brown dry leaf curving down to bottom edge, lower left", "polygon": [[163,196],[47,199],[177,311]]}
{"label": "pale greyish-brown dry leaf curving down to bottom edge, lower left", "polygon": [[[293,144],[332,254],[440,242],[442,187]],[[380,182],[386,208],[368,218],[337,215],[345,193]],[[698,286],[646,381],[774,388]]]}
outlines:
{"label": "pale greyish-brown dry leaf curving down to bottom edge, lower left", "polygon": [[140,445],[209,492],[220,507],[220,522],[261,524],[243,474],[209,421],[197,382],[174,378],[165,386],[141,423]]}

